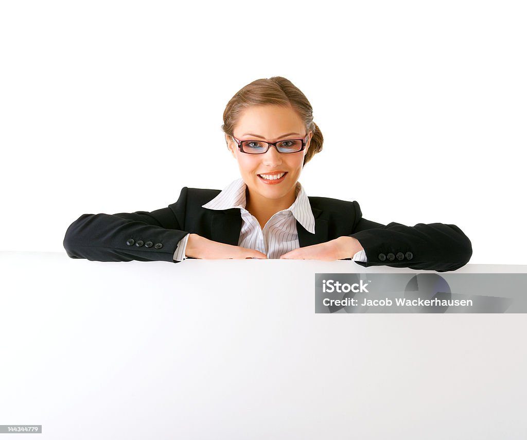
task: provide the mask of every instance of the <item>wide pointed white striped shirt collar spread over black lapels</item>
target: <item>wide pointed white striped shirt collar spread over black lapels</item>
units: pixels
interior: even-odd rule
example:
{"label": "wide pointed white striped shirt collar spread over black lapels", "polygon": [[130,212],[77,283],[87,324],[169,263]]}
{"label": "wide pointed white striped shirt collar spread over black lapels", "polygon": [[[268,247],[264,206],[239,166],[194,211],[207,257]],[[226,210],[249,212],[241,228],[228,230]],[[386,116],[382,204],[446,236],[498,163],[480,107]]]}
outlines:
{"label": "wide pointed white striped shirt collar spread over black lapels", "polygon": [[[210,202],[202,205],[202,208],[216,210],[240,208],[242,212],[248,212],[245,209],[247,202],[245,198],[246,189],[247,185],[245,182],[243,182],[243,179],[237,179],[227,185],[227,187]],[[298,220],[298,222],[306,229],[306,231],[314,234],[315,217],[313,216],[313,211],[311,210],[311,204],[309,203],[307,193],[300,182],[297,182],[295,195],[296,200],[289,208],[287,208],[286,211],[291,211],[295,219]]]}

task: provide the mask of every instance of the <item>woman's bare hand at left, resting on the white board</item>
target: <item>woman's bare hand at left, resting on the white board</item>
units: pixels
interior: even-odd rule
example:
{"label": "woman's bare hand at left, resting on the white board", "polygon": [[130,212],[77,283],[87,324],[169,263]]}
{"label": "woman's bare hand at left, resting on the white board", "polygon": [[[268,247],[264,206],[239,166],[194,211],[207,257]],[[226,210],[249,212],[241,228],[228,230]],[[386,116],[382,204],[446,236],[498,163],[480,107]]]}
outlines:
{"label": "woman's bare hand at left, resting on the white board", "polygon": [[220,260],[252,257],[267,259],[265,253],[257,250],[218,243],[217,241],[201,237],[198,234],[189,235],[185,255],[192,258]]}

